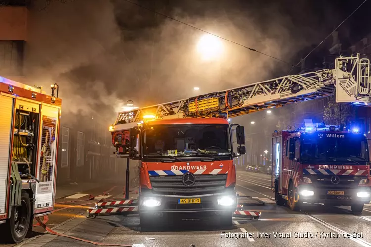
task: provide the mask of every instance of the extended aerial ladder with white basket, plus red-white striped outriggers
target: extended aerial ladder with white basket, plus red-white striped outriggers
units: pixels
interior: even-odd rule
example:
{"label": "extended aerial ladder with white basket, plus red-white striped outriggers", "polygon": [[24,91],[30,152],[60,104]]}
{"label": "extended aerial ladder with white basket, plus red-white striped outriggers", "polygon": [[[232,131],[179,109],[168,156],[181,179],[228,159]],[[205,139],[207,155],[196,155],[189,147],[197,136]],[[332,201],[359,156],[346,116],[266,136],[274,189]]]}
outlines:
{"label": "extended aerial ladder with white basket, plus red-white striped outriggers", "polygon": [[[124,146],[128,143],[129,128],[137,126],[147,115],[156,119],[168,118],[231,118],[268,108],[275,108],[302,101],[323,98],[335,93],[336,102],[357,105],[371,105],[370,60],[351,57],[338,57],[334,69],[323,69],[299,75],[289,75],[263,82],[257,82],[224,91],[212,92],[189,99],[133,108],[119,112],[115,123],[110,126],[112,138],[116,142],[118,157],[128,157]],[[116,134],[119,136],[117,137]],[[119,143],[119,144],[118,144]],[[129,161],[129,158],[128,158]],[[126,179],[129,181],[129,162]],[[127,193],[128,196],[128,183]],[[241,210],[241,206],[240,209]],[[242,209],[243,210],[243,209]],[[101,201],[89,209],[90,216],[137,213],[137,200]],[[259,218],[259,212],[236,211],[234,215],[244,214]]]}

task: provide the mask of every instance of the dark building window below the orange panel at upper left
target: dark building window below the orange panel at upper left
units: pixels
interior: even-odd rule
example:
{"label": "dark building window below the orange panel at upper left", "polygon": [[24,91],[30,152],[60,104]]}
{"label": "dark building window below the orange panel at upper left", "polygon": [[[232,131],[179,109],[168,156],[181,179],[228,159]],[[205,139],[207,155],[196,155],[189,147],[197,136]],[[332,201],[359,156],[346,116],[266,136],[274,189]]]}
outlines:
{"label": "dark building window below the orange panel at upper left", "polygon": [[24,41],[0,41],[0,74],[23,75]]}

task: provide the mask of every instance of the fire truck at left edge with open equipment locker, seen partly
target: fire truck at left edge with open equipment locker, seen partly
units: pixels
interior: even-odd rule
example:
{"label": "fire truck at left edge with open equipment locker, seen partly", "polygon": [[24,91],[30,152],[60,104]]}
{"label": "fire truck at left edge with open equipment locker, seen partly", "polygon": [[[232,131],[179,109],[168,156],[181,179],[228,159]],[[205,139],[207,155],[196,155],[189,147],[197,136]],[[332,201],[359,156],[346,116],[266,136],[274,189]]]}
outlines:
{"label": "fire truck at left edge with open equipment locker, seen partly", "polygon": [[[57,90],[54,95],[55,89]],[[54,208],[61,100],[0,77],[1,239],[21,242]]]}

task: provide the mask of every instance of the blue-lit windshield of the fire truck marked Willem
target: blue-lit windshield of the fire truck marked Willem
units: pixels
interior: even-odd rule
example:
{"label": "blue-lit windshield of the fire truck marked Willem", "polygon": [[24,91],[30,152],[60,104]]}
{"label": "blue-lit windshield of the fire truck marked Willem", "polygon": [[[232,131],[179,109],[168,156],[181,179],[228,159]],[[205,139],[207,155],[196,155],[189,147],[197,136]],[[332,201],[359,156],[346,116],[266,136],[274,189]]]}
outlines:
{"label": "blue-lit windshield of the fire truck marked Willem", "polygon": [[367,140],[362,134],[315,132],[302,135],[303,164],[355,164],[369,161]]}

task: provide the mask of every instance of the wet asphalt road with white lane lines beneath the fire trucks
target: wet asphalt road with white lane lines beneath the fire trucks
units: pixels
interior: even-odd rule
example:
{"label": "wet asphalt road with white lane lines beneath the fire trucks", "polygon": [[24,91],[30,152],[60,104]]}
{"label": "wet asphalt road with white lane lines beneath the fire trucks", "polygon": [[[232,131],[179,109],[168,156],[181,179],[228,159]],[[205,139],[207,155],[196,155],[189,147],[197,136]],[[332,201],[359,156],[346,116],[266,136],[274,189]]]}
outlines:
{"label": "wet asphalt road with white lane lines beneath the fire trucks", "polygon": [[[75,208],[70,213],[84,214],[71,218],[55,230],[96,242],[130,246],[143,243],[145,247],[189,247],[191,244],[196,247],[371,247],[371,206],[365,206],[362,216],[353,215],[348,206],[331,210],[326,210],[322,205],[307,206],[301,212],[292,212],[286,207],[276,206],[270,187],[268,175],[242,171],[237,173],[238,192],[258,197],[265,205],[248,207],[248,210],[262,212],[260,221],[236,218],[231,229],[217,229],[211,219],[206,223],[191,222],[186,225],[179,221],[157,232],[140,232],[138,216],[88,219],[85,217],[86,208]],[[240,238],[221,236],[221,232],[234,236],[239,234]],[[275,233],[280,236],[275,236]],[[347,233],[351,238],[344,236]],[[49,234],[28,241],[18,246],[96,246]]]}

